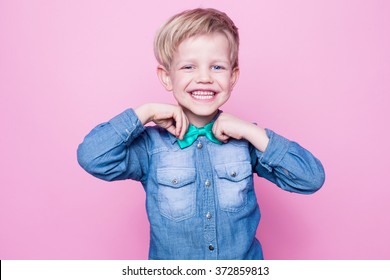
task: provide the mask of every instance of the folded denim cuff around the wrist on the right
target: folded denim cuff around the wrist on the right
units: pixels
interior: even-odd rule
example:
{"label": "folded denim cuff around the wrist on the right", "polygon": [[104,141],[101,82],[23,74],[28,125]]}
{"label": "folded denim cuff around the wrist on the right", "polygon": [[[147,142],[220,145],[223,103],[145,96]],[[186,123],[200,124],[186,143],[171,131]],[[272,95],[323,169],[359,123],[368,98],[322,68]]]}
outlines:
{"label": "folded denim cuff around the wrist on the right", "polygon": [[265,129],[269,138],[269,143],[264,152],[256,150],[260,164],[268,171],[272,171],[274,166],[278,166],[284,158],[290,146],[290,140],[276,134],[270,129]]}

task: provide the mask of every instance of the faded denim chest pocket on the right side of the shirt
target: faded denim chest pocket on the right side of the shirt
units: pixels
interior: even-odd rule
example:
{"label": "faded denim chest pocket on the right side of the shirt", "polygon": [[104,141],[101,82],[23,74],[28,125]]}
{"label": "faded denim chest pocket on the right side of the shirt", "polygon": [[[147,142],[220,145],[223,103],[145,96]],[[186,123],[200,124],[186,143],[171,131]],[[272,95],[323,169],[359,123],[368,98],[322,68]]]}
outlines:
{"label": "faded denim chest pocket on the right side of the shirt", "polygon": [[250,162],[232,162],[215,166],[219,207],[223,211],[238,212],[247,204],[251,187],[252,166]]}

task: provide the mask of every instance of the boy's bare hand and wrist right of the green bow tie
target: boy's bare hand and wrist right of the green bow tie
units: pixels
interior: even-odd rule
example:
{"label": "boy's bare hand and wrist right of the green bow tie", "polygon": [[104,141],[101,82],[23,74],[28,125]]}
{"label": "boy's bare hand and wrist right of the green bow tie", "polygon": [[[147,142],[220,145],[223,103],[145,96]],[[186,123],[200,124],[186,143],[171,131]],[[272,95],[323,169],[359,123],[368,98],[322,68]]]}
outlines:
{"label": "boy's bare hand and wrist right of the green bow tie", "polygon": [[246,139],[260,151],[265,151],[269,138],[265,130],[233,115],[221,113],[213,125],[214,136],[224,143],[229,138]]}

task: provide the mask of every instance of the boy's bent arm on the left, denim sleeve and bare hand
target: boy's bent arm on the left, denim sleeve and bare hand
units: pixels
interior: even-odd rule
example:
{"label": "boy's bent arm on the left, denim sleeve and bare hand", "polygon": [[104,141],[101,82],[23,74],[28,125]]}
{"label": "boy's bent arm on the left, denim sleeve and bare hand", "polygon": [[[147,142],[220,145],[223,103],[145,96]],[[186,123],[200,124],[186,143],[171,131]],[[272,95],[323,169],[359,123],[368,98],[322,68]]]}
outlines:
{"label": "boy's bent arm on the left, denim sleeve and bare hand", "polygon": [[148,138],[142,133],[150,121],[181,139],[188,127],[187,117],[175,105],[152,103],[128,109],[85,137],[77,150],[80,165],[103,180],[142,181],[148,174]]}

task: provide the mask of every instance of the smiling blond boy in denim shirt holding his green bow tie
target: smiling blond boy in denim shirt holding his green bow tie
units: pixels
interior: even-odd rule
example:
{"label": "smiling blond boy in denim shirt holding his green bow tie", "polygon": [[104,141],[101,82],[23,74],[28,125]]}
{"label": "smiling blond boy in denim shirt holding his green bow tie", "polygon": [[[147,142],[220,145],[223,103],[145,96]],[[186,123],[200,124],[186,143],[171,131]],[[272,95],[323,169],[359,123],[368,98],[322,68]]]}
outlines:
{"label": "smiling blond boy in denim shirt holding his green bow tie", "polygon": [[173,16],[156,36],[155,55],[177,105],[128,109],[79,146],[92,175],[142,183],[150,259],[263,259],[252,174],[303,194],[324,182],[320,161],[297,143],[219,110],[238,80],[238,46],[225,13]]}

